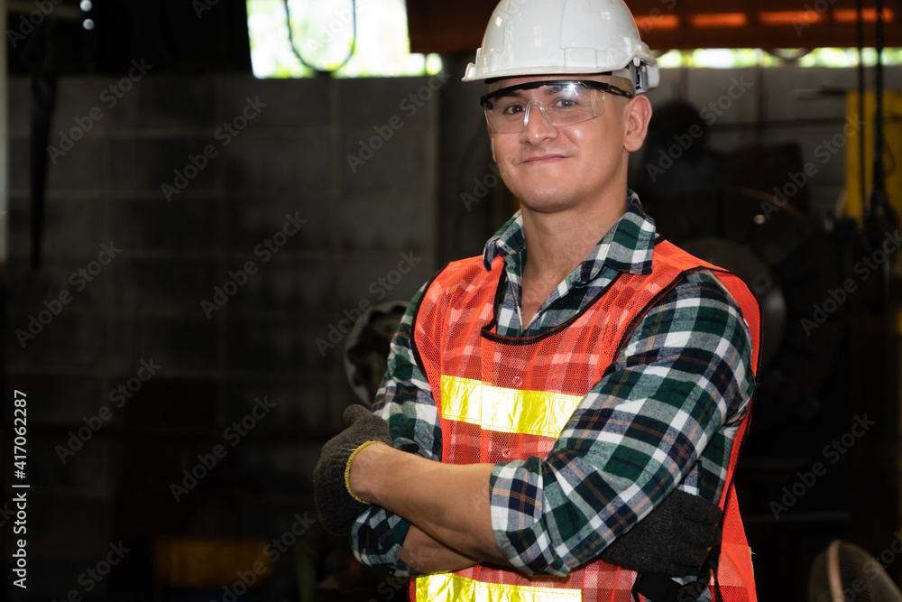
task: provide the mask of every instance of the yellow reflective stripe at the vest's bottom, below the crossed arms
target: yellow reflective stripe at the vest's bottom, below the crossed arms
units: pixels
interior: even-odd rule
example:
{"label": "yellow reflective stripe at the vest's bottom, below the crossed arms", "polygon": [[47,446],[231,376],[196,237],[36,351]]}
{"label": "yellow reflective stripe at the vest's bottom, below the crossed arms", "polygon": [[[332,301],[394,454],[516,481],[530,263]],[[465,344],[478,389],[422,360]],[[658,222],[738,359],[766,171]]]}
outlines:
{"label": "yellow reflective stripe at the vest's bottom, below the crossed arms", "polygon": [[454,573],[418,577],[416,602],[580,602],[579,589],[483,583]]}

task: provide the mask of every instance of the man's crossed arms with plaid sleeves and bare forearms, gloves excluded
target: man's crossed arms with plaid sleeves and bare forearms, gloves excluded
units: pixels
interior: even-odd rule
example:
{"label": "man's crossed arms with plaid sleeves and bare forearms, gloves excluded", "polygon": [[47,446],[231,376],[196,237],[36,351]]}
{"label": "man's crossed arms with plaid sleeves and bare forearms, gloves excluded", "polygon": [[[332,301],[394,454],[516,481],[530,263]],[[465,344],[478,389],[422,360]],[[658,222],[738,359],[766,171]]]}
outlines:
{"label": "man's crossed arms with plaid sleeves and bare forearms, gloves excluded", "polygon": [[716,501],[753,379],[748,331],[712,281],[698,274],[649,311],[548,458],[499,465],[436,462],[437,412],[406,319],[376,405],[399,449],[371,446],[351,468],[354,492],[373,502],[352,528],[361,560],[566,575],[680,482]]}

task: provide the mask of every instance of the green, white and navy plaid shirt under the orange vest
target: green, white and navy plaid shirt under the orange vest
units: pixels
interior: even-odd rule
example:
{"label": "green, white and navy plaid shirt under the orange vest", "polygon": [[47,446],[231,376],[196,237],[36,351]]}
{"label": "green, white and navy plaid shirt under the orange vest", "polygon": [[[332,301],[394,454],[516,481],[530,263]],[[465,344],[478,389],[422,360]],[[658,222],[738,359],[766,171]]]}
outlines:
{"label": "green, white and navy plaid shirt under the orange vest", "polygon": [[[627,213],[525,327],[520,295],[526,240],[520,214],[489,240],[484,265],[490,269],[502,255],[508,282],[497,312],[498,334],[525,337],[554,328],[582,310],[617,273],[651,272],[655,224],[630,195]],[[412,318],[424,291],[414,297],[392,341],[373,411],[389,423],[396,448],[440,461],[436,403],[411,349]],[[754,386],[751,338],[739,306],[712,273],[687,276],[649,308],[603,379],[580,402],[574,416],[583,418],[567,423],[557,445],[575,450],[569,463],[550,466],[544,458],[528,458],[492,469],[492,528],[504,555],[528,574],[564,576],[597,556],[676,486],[719,500],[732,440]],[[605,415],[591,412],[600,407],[616,411],[608,419],[585,418]],[[593,474],[587,477],[587,471]],[[605,495],[588,484],[598,479]],[[400,561],[409,526],[372,506],[352,528],[355,555],[367,565],[412,572]]]}

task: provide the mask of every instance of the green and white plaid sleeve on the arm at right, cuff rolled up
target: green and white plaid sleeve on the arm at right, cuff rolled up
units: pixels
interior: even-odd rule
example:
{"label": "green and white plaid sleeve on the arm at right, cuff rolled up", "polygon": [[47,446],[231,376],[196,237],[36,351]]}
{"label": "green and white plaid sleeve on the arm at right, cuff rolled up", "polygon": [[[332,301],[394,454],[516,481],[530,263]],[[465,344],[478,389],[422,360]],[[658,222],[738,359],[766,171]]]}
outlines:
{"label": "green and white plaid sleeve on the arm at right, cuff rolled up", "polygon": [[716,501],[754,389],[751,339],[711,273],[651,308],[548,458],[492,469],[492,527],[513,566],[566,575],[676,486]]}

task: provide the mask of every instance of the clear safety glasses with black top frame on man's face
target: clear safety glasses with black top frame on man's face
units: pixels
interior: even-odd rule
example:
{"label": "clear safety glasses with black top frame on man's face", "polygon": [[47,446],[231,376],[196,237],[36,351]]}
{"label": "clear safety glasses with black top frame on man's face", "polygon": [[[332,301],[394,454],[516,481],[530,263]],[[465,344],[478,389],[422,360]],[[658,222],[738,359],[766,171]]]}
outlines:
{"label": "clear safety glasses with black top frame on man's face", "polygon": [[[537,90],[523,94],[524,90]],[[529,125],[530,108],[538,107],[556,127],[575,125],[604,113],[605,92],[632,98],[626,90],[593,80],[532,81],[490,92],[479,99],[485,120],[495,134],[519,134]]]}

